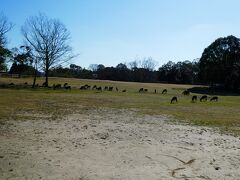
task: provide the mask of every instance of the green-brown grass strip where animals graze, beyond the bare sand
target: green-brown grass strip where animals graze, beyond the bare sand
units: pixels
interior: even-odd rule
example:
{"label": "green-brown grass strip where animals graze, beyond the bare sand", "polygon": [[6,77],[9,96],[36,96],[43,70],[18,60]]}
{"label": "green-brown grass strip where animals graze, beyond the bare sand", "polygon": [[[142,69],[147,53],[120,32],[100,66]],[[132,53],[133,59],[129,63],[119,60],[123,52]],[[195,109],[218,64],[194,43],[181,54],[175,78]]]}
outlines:
{"label": "green-brown grass strip where animals graze, beyond the bare sand", "polygon": [[[37,83],[43,83],[42,78]],[[23,84],[32,82],[29,78],[0,78],[0,84]],[[72,90],[52,90],[45,88],[4,88],[0,89],[0,122],[8,119],[57,119],[68,113],[84,113],[89,108],[110,107],[134,109],[139,113],[175,117],[177,121],[218,127],[226,133],[240,135],[240,96],[219,96],[219,102],[191,103],[190,96],[182,91],[192,85],[132,83],[99,80],[50,78],[50,85],[67,82]],[[114,86],[113,92],[79,90],[82,85]],[[147,88],[147,93],[138,93],[139,88]],[[161,94],[163,89],[168,93]],[[127,92],[122,92],[126,89]],[[154,93],[157,90],[157,94]],[[195,94],[200,96],[200,94]],[[173,96],[179,102],[170,104]]]}

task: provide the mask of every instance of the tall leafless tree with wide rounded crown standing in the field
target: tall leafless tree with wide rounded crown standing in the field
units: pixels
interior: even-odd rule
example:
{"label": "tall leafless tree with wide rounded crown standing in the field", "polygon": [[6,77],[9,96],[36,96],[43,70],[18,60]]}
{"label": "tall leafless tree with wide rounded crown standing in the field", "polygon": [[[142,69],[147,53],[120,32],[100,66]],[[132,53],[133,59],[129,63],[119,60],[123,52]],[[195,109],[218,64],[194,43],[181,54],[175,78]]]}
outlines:
{"label": "tall leafless tree with wide rounded crown standing in the field", "polygon": [[72,48],[69,46],[70,33],[59,20],[39,14],[26,20],[22,26],[22,34],[45,72],[47,87],[49,69],[73,58]]}

